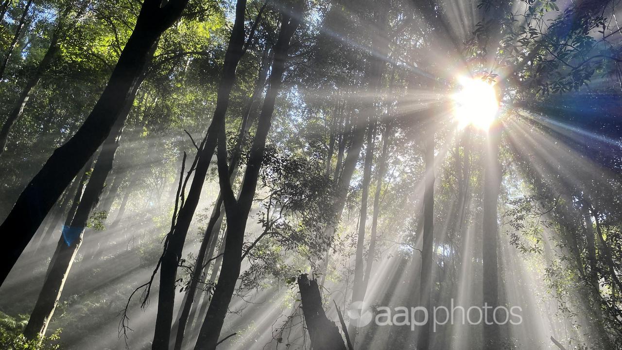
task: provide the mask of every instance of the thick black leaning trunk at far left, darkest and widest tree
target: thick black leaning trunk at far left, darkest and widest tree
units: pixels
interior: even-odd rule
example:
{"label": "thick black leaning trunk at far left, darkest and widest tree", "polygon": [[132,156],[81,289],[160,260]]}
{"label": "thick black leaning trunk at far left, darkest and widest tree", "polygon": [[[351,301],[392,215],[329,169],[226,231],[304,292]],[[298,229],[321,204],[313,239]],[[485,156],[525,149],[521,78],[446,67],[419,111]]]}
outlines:
{"label": "thick black leaning trunk at far left, darkest and widest tree", "polygon": [[54,151],[0,226],[4,239],[0,248],[0,283],[4,282],[58,197],[108,137],[151,58],[152,47],[160,34],[177,21],[186,3],[187,0],[172,0],[160,8],[159,0],[143,2],[136,27],[93,111],[77,133]]}

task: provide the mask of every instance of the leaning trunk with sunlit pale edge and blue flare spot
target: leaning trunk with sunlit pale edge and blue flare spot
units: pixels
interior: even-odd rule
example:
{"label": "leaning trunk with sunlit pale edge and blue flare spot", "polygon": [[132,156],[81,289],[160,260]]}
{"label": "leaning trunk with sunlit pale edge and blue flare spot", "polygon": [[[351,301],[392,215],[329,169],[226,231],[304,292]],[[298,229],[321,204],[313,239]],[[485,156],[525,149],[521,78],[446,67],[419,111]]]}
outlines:
{"label": "leaning trunk with sunlit pale edge and blue flare spot", "polygon": [[[138,85],[136,85],[134,93],[136,93],[137,87]],[[133,96],[128,97],[128,100],[126,100],[124,108],[126,115],[133,101]],[[125,120],[126,116],[121,116],[114,124],[111,134],[102,146],[100,156],[97,158],[97,163],[86,184],[84,194],[80,199],[75,215],[72,217],[71,224],[63,227],[63,234],[60,240],[58,240],[54,258],[50,262],[49,273],[45,278],[34,310],[30,314],[28,324],[24,328],[24,336],[28,339],[36,339],[37,336],[45,335],[45,330],[50,319],[52,319],[63,291],[63,286],[72,268],[73,260],[78,253],[78,248],[82,244],[88,218],[100,199],[106,178],[113,167],[114,154],[119,147]]]}

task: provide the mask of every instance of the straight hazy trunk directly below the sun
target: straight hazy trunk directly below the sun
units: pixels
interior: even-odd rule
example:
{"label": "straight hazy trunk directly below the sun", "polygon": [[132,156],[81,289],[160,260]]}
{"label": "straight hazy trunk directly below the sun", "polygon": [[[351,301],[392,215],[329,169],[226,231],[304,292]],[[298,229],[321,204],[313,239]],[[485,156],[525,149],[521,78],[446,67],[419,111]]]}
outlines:
{"label": "straight hazy trunk directly below the sun", "polygon": [[[488,133],[488,148],[484,176],[482,258],[483,258],[483,301],[490,306],[487,311],[499,306],[498,290],[498,224],[497,206],[501,192],[501,164],[499,163],[499,144],[501,131],[494,128]],[[491,314],[488,319],[491,318]],[[501,329],[498,324],[484,324],[484,350],[501,348]]]}

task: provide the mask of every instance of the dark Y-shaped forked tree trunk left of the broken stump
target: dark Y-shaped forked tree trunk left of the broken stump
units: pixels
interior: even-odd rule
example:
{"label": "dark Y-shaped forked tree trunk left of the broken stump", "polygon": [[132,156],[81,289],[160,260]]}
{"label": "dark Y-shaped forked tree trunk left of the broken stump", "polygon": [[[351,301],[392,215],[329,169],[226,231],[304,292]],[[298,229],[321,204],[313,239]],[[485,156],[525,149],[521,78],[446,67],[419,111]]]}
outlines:
{"label": "dark Y-shaped forked tree trunk left of the broken stump", "polygon": [[225,255],[223,257],[222,273],[218,278],[205,321],[203,321],[199,331],[195,350],[214,350],[216,348],[231,296],[233,296],[236,281],[239,277],[244,245],[244,230],[246,229],[246,221],[251,210],[251,204],[253,204],[276,97],[279,90],[281,90],[287,50],[289,49],[289,42],[300,23],[300,17],[302,17],[300,12],[302,2],[297,1],[296,4],[298,8],[294,9],[293,13],[290,12],[290,9],[284,9],[282,14],[281,31],[279,32],[279,39],[274,46],[274,64],[272,64],[269,88],[266,92],[261,115],[259,115],[256,136],[250,149],[244,181],[237,201],[231,189],[228,168],[226,167],[225,125],[222,125],[219,131],[218,174],[220,188],[223,191],[227,219]]}

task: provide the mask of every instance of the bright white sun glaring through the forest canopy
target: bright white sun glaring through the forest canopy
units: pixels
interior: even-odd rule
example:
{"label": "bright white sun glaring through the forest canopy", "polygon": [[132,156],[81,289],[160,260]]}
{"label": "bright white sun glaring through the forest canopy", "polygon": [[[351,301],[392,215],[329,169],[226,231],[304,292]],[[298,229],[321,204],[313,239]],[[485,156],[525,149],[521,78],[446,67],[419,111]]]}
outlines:
{"label": "bright white sun glaring through the forest canopy", "polygon": [[494,86],[480,78],[458,78],[460,91],[453,95],[453,115],[459,128],[473,125],[488,130],[499,110]]}

